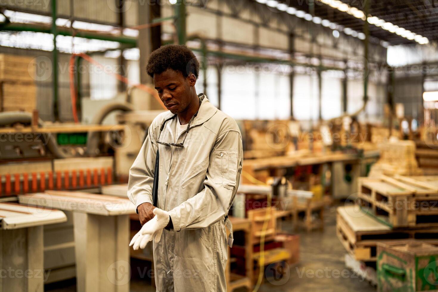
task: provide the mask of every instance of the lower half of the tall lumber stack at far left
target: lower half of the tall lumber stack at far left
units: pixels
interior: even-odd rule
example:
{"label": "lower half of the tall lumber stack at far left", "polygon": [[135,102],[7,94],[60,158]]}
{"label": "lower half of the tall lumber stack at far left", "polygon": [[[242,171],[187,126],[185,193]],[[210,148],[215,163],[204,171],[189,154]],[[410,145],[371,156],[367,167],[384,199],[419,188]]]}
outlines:
{"label": "lower half of the tall lumber stack at far left", "polygon": [[26,111],[36,109],[36,86],[33,83],[2,82],[0,89],[1,111]]}

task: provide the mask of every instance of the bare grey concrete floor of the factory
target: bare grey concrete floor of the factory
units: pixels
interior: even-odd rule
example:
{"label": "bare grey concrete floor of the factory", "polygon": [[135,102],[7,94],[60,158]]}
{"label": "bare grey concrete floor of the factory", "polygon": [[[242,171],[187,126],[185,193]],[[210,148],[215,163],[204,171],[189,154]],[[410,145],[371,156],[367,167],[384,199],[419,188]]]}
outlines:
{"label": "bare grey concrete floor of the factory", "polygon": [[[284,230],[291,228],[290,220],[282,222]],[[366,280],[357,278],[344,265],[344,247],[336,237],[336,208],[332,207],[325,212],[324,232],[314,231],[300,233],[300,264],[290,268],[288,281],[283,279],[265,280],[258,289],[259,292],[296,291],[296,292],[365,292],[375,291]],[[342,275],[342,276],[341,276]],[[74,280],[46,285],[46,291],[67,292],[76,291]],[[131,280],[131,292],[155,291],[149,282],[141,279]],[[239,290],[245,291],[244,289]]]}

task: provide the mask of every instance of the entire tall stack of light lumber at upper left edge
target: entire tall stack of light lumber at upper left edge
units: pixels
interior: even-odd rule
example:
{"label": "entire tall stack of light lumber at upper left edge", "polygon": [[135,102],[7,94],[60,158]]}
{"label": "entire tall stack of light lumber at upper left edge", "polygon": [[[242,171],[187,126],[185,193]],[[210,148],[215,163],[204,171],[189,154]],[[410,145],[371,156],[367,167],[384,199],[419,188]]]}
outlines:
{"label": "entire tall stack of light lumber at upper left edge", "polygon": [[36,108],[32,57],[0,54],[0,111]]}

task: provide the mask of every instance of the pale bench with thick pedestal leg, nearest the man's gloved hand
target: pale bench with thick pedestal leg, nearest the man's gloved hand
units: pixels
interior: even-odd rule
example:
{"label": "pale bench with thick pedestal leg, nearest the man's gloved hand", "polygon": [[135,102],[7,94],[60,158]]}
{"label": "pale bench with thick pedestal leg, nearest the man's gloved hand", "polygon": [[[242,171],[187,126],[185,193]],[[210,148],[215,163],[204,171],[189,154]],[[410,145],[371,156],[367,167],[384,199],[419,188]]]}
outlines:
{"label": "pale bench with thick pedestal leg, nearest the man's gloved hand", "polygon": [[49,191],[19,195],[20,203],[73,211],[76,279],[79,292],[128,292],[129,215],[127,198]]}

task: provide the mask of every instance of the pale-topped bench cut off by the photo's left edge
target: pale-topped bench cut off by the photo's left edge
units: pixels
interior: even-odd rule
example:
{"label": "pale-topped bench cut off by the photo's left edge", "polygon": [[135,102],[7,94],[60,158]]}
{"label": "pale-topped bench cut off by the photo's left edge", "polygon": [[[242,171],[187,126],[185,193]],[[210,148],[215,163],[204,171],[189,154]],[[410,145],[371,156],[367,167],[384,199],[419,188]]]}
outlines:
{"label": "pale-topped bench cut off by the photo's left edge", "polygon": [[63,211],[0,203],[0,291],[44,291],[42,228],[65,221]]}

